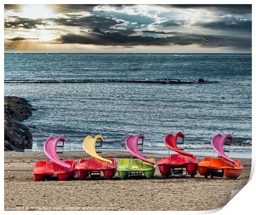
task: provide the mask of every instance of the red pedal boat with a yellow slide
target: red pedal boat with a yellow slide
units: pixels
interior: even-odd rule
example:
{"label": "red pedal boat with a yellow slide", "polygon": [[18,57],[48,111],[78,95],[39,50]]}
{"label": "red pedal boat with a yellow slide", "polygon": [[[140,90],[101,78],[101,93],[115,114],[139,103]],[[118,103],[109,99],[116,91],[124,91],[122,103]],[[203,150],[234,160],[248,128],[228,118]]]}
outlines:
{"label": "red pedal boat with a yellow slide", "polygon": [[97,135],[94,138],[87,136],[83,140],[83,149],[86,154],[90,154],[92,157],[81,159],[80,163],[76,165],[77,176],[80,180],[84,180],[88,176],[100,178],[101,172],[106,179],[111,179],[116,174],[117,165],[115,159],[104,159],[95,151],[97,140],[100,140],[99,147],[102,147],[103,137],[101,135]]}

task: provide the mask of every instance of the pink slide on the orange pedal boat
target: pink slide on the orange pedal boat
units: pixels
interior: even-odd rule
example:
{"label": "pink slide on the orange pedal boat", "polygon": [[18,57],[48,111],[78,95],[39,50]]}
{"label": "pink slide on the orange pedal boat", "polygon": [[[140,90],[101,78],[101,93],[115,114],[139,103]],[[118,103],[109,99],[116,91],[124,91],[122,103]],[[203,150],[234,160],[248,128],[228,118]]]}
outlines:
{"label": "pink slide on the orange pedal boat", "polygon": [[223,146],[226,139],[233,140],[233,136],[231,134],[227,134],[226,136],[222,136],[220,133],[214,136],[214,138],[211,140],[211,146],[213,147],[214,151],[217,152],[221,157],[223,157],[226,161],[229,161],[235,165],[237,165],[237,162],[229,158],[225,153],[223,152]]}

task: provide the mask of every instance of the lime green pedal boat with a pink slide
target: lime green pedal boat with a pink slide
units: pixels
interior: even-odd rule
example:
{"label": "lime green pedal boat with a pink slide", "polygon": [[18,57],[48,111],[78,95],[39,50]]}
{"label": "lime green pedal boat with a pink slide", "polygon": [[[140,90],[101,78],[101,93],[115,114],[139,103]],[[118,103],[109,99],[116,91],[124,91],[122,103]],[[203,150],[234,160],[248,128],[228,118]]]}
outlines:
{"label": "lime green pedal boat with a pink slide", "polygon": [[[138,144],[140,138],[142,139],[142,143]],[[138,145],[143,146],[144,139],[145,136],[143,133],[138,136],[129,135],[128,138],[126,138],[126,149],[131,153],[131,158],[119,160],[119,165],[116,170],[118,171],[118,175],[121,179],[128,178],[129,175],[133,176],[142,174],[149,179],[154,175],[156,170],[155,159],[146,159],[138,150]],[[133,159],[133,156],[138,159]]]}

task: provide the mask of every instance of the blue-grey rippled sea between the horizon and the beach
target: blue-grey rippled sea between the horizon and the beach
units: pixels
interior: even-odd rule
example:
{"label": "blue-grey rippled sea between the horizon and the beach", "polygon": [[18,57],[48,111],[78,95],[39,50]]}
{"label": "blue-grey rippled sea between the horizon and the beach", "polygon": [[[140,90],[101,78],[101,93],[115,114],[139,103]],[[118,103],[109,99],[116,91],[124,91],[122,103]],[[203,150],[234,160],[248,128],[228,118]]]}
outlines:
{"label": "blue-grey rippled sea between the horizon and the beach", "polygon": [[[132,81],[199,78],[209,83]],[[125,150],[144,131],[145,151],[168,153],[165,136],[183,130],[186,151],[211,155],[223,131],[233,132],[231,157],[251,157],[251,54],[5,54],[5,82],[5,96],[37,109],[25,121],[36,125],[32,150],[50,133],[65,135],[65,150],[82,150],[91,133]]]}

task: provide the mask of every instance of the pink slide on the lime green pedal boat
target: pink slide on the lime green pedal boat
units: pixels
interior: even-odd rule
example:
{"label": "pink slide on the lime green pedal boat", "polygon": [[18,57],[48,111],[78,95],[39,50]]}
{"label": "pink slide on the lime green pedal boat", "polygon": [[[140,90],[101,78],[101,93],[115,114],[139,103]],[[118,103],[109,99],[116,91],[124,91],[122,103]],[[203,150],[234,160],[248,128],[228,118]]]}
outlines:
{"label": "pink slide on the lime green pedal boat", "polygon": [[138,151],[138,141],[139,139],[145,139],[145,136],[140,133],[137,137],[133,136],[133,135],[129,135],[126,138],[126,149],[135,157],[141,159],[142,161],[145,161],[149,164],[154,164],[156,165],[156,163],[154,161],[150,161],[148,159],[146,159],[145,157],[143,157],[140,152]]}

